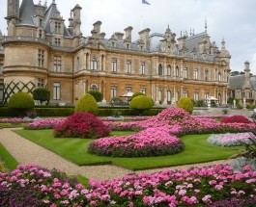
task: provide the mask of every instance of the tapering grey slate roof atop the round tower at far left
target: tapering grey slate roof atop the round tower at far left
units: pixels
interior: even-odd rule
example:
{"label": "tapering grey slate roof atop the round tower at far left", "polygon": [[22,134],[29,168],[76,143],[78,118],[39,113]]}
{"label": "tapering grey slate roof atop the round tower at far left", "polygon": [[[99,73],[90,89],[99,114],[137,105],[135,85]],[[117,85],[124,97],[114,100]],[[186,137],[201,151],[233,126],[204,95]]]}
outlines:
{"label": "tapering grey slate roof atop the round tower at far left", "polygon": [[35,15],[36,10],[33,0],[23,0],[19,10],[19,18],[21,21],[18,24],[36,26],[33,21]]}

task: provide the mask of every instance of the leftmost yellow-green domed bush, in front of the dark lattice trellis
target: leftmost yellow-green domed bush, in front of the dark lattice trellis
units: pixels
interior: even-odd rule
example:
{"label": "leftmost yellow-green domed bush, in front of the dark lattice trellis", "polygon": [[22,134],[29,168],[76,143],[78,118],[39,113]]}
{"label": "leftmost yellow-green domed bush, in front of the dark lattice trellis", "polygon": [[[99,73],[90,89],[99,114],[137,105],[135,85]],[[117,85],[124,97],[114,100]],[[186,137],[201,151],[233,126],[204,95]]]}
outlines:
{"label": "leftmost yellow-green domed bush, in front of the dark lattice trellis", "polygon": [[16,92],[9,99],[8,107],[14,109],[33,109],[35,103],[30,94],[26,92]]}

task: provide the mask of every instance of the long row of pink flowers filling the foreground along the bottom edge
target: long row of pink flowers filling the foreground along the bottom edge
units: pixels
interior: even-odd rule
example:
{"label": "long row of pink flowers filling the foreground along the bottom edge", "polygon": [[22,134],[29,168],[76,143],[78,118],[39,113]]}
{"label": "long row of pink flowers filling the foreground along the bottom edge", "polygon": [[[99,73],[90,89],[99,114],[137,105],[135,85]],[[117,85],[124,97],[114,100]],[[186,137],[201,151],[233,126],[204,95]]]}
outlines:
{"label": "long row of pink flowers filling the foreground along the bottom edge", "polygon": [[253,206],[256,172],[228,165],[90,180],[84,188],[56,170],[36,165],[0,173],[1,206]]}

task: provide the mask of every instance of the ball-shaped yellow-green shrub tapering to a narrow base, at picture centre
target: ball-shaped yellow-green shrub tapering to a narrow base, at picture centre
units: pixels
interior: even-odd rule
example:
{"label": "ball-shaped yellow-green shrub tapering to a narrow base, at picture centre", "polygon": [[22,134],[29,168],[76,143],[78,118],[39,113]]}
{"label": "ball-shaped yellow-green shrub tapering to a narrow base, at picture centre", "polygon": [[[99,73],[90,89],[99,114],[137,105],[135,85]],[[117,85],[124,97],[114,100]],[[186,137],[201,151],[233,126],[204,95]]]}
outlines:
{"label": "ball-shaped yellow-green shrub tapering to a narrow base, at picture centre", "polygon": [[153,107],[152,99],[146,95],[138,95],[129,102],[129,108],[139,112],[139,115]]}

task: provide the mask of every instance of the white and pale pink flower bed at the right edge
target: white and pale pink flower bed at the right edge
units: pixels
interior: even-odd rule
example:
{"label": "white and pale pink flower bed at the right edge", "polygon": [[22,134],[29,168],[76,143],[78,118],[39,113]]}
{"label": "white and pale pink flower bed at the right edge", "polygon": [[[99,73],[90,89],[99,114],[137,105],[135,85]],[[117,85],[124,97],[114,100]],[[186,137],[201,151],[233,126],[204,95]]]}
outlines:
{"label": "white and pale pink flower bed at the right edge", "polygon": [[255,138],[252,133],[227,133],[221,135],[211,135],[208,142],[218,146],[240,146],[242,142],[252,144],[248,138]]}

